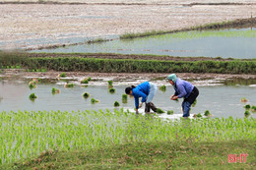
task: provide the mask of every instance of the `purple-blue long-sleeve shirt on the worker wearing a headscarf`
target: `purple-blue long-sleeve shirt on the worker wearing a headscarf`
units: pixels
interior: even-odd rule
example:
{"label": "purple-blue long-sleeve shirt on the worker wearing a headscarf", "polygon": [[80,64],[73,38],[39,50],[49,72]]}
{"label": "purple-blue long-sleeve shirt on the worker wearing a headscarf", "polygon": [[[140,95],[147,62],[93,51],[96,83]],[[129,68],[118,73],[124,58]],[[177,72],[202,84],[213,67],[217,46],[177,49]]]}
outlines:
{"label": "purple-blue long-sleeve shirt on the worker wearing a headscarf", "polygon": [[182,97],[187,98],[192,92],[194,85],[190,84],[187,81],[177,79],[173,87],[175,90],[175,93],[174,93],[175,95],[177,95],[179,98],[182,98]]}

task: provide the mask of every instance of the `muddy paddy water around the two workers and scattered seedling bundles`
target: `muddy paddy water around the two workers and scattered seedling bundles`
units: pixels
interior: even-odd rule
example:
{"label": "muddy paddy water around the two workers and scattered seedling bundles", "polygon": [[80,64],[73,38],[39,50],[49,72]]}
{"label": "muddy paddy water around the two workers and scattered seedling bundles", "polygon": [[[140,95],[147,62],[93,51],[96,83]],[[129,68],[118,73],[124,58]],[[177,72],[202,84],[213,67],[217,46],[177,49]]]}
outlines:
{"label": "muddy paddy water around the two workers and scattered seedling bundles", "polygon": [[[52,94],[51,88],[56,87],[61,90],[60,93]],[[134,108],[134,99],[128,97],[128,103],[122,103],[122,94],[125,85],[115,85],[116,92],[108,92],[107,85],[89,85],[88,87],[75,85],[72,88],[65,88],[59,84],[37,85],[30,89],[24,82],[0,82],[0,111],[18,111],[18,110],[113,110],[113,103],[118,101],[120,107],[132,110]],[[245,103],[240,102],[240,98],[246,97],[249,102],[246,104],[256,105],[256,85],[198,85],[200,95],[196,107],[192,107],[191,114],[201,113],[209,110],[213,117],[244,117]],[[34,92],[37,98],[32,101],[29,95]],[[89,92],[91,97],[85,99],[82,94]],[[166,86],[166,91],[158,91],[154,98],[155,104],[163,110],[173,110],[174,116],[162,115],[172,118],[181,115],[181,102],[171,101],[169,96],[173,93],[170,85]],[[92,104],[91,98],[100,100],[99,103]],[[141,109],[143,112],[143,109]],[[252,114],[256,118],[256,114]]]}

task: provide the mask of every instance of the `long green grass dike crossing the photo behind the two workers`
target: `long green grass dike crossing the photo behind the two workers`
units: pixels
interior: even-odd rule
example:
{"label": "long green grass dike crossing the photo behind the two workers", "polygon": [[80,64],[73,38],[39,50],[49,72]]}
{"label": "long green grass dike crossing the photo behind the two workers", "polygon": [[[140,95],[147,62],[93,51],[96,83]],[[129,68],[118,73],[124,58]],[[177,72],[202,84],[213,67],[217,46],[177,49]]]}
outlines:
{"label": "long green grass dike crossing the photo behind the two workers", "polygon": [[190,61],[143,59],[87,58],[78,54],[26,54],[0,53],[0,68],[21,66],[27,70],[54,70],[63,72],[99,72],[99,73],[218,73],[218,74],[256,74],[256,60],[202,60]]}

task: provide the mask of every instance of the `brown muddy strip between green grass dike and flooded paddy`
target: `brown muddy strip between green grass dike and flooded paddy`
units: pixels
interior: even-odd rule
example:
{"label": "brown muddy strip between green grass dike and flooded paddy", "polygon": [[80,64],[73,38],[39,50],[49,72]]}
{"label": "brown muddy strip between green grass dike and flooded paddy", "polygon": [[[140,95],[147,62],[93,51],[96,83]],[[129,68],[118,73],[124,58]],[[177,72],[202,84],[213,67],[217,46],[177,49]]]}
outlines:
{"label": "brown muddy strip between green grass dike and flooded paddy", "polygon": [[[6,79],[20,78],[43,78],[50,80],[59,79],[59,75],[63,72],[48,71],[48,72],[25,72],[23,70],[5,70],[0,73],[0,77]],[[82,80],[84,78],[101,78],[114,81],[124,80],[164,80],[172,73],[89,73],[89,72],[65,72],[70,79]],[[194,74],[194,73],[176,73],[176,75],[185,80],[228,80],[228,79],[244,79],[256,80],[256,75],[251,74]]]}

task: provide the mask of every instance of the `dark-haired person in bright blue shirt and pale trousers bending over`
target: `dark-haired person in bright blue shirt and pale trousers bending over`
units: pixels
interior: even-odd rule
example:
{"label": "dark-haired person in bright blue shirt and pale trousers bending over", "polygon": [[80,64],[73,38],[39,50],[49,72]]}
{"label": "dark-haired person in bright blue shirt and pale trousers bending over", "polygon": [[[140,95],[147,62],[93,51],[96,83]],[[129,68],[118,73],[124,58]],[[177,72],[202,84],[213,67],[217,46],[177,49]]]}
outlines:
{"label": "dark-haired person in bright blue shirt and pale trousers bending over", "polygon": [[[139,113],[138,108],[142,106],[143,102],[146,102],[145,112],[149,113],[151,109],[154,112],[157,112],[157,107],[152,102],[153,97],[157,93],[157,90],[158,90],[157,85],[153,83],[145,82],[137,86],[131,85],[126,87],[125,93],[134,96],[136,113]],[[139,97],[142,97],[141,104],[139,104]]]}

